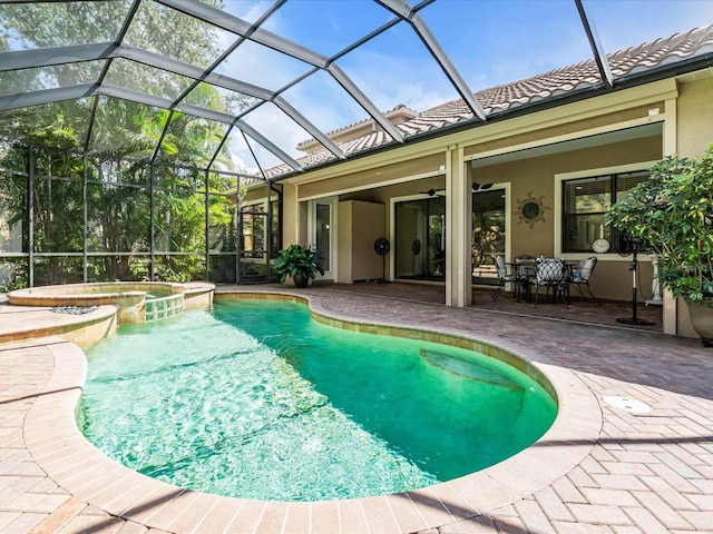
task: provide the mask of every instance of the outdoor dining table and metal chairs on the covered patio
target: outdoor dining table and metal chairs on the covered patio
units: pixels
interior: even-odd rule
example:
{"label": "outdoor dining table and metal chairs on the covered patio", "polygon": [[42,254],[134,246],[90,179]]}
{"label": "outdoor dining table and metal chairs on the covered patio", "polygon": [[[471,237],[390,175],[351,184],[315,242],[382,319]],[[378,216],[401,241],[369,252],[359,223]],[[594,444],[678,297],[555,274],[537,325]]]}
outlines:
{"label": "outdoor dining table and metal chairs on the covered patio", "polygon": [[540,290],[544,290],[545,298],[551,293],[551,301],[561,299],[564,304],[569,304],[569,290],[574,286],[583,298],[589,296],[598,304],[589,287],[596,265],[596,256],[579,261],[567,261],[563,258],[521,255],[516,256],[511,263],[506,263],[502,256],[496,256],[498,289],[492,295],[492,300],[510,285],[518,303],[525,299],[537,305]]}

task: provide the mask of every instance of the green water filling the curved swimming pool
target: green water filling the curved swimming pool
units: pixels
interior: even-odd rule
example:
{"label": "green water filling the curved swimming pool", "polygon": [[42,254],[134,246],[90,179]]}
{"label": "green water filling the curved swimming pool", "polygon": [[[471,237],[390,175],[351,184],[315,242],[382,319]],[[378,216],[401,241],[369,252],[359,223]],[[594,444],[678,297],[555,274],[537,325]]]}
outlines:
{"label": "green water filling the curved swimming pool", "polygon": [[501,362],[332,328],[290,303],[218,301],[123,325],[87,356],[77,418],[95,446],[148,476],[245,498],[451,479],[527,447],[557,411]]}

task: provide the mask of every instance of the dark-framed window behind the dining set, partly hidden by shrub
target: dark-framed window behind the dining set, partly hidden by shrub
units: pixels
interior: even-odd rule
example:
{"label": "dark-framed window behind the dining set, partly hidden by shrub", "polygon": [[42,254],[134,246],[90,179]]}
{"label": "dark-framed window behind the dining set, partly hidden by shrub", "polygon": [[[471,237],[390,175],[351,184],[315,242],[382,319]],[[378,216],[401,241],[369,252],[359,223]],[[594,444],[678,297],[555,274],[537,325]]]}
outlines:
{"label": "dark-framed window behind the dining set, partly hidden by shrub", "polygon": [[604,214],[647,178],[644,170],[563,181],[563,253],[592,253],[597,239],[609,241],[609,253],[618,251],[618,234],[604,222]]}

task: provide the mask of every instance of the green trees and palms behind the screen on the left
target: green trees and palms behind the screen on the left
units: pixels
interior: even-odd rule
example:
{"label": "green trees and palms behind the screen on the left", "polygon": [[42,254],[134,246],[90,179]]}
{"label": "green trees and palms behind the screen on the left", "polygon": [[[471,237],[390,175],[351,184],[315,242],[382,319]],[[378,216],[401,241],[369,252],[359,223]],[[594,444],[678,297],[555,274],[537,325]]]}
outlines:
{"label": "green trees and palms behind the screen on the left", "polygon": [[[221,7],[217,1],[207,3]],[[0,51],[114,41],[129,4],[0,4]],[[216,31],[158,2],[141,2],[125,42],[205,67],[221,51]],[[185,79],[160,69],[126,59],[115,63],[109,72],[118,72],[117,79],[129,89],[180,95],[186,88]],[[7,81],[6,93],[12,93],[87,83],[96,81],[102,67],[104,61],[18,70],[3,77],[3,85]],[[192,91],[189,101],[223,112],[248,103],[241,97],[224,98],[204,82]],[[237,186],[234,178],[193,168],[213,164],[213,168],[233,170],[227,146],[216,155],[226,129],[226,125],[195,116],[97,96],[0,113],[0,137],[6,139],[0,146],[0,168],[27,172],[27,146],[40,147],[31,149],[31,238],[35,251],[58,256],[36,259],[36,283],[81,279],[81,257],[61,255],[82,253],[85,243],[90,254],[104,253],[89,258],[90,279],[148,276],[146,257],[152,241],[159,277],[176,281],[202,277],[206,267],[205,191],[211,192],[207,217],[212,248],[235,237],[229,228]],[[85,147],[90,154],[86,160],[81,155]],[[0,217],[8,228],[25,225],[28,181],[1,178]],[[228,189],[233,201],[225,195]],[[22,246],[26,251],[28,243],[26,239]]]}

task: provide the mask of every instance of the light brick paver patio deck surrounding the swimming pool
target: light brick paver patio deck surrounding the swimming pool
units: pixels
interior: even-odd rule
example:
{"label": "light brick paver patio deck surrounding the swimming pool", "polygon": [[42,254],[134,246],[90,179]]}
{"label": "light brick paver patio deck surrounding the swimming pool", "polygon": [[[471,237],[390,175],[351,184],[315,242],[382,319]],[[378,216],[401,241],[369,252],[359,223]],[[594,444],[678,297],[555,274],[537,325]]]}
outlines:
{"label": "light brick paver patio deck surrounding the swimming pool", "polygon": [[[284,290],[216,293],[276,289]],[[71,424],[86,365],[74,345],[6,343],[0,532],[713,533],[713,349],[697,340],[379,291],[290,293],[335,318],[465,335],[536,363],[564,388],[557,428],[519,459],[423,491],[341,503],[214,497],[145,479],[91,451]],[[0,332],[61,320],[2,308]],[[652,411],[612,406],[611,396]]]}

